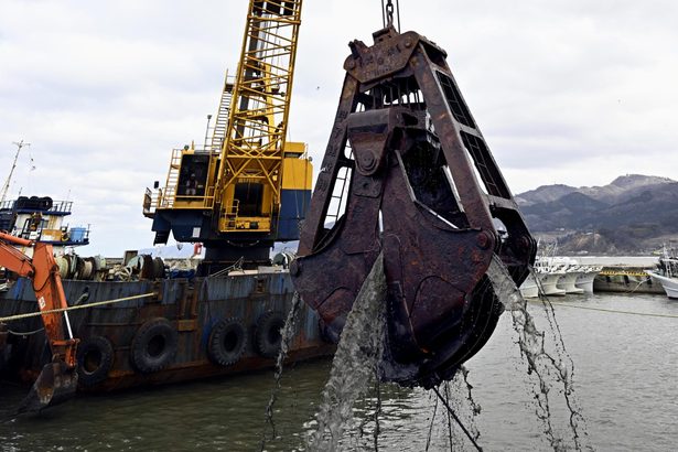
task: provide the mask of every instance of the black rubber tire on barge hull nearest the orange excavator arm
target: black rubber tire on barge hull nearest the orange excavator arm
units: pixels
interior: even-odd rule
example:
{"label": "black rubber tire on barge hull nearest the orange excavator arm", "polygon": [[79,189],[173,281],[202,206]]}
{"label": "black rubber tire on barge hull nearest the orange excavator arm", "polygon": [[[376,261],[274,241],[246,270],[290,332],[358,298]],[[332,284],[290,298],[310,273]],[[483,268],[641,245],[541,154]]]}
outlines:
{"label": "black rubber tire on barge hull nearest the orange excavator arm", "polygon": [[112,368],[115,352],[106,337],[89,336],[77,346],[78,383],[89,387],[104,381]]}

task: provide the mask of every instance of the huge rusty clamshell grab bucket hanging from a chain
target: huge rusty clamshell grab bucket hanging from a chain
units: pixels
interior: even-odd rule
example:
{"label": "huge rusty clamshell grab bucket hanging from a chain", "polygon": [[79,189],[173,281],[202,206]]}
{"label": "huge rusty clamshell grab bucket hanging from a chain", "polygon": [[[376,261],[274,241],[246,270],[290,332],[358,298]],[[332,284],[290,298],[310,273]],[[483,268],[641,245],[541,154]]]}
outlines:
{"label": "huge rusty clamshell grab bucket hanging from a chain", "polygon": [[430,387],[489,338],[503,306],[486,271],[516,284],[536,244],[445,63],[423,36],[387,28],[355,41],[294,286],[338,337],[381,252],[383,378]]}

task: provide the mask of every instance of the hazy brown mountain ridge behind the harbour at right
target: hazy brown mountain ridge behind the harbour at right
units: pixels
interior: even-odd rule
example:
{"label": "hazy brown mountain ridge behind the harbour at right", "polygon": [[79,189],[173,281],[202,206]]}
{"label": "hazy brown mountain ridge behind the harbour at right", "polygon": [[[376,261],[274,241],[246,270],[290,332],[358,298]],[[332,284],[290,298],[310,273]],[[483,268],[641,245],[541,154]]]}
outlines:
{"label": "hazy brown mountain ridge behind the harbour at right", "polygon": [[559,237],[563,252],[646,252],[678,239],[678,182],[669,177],[626,174],[607,185],[542,185],[515,197],[532,234]]}

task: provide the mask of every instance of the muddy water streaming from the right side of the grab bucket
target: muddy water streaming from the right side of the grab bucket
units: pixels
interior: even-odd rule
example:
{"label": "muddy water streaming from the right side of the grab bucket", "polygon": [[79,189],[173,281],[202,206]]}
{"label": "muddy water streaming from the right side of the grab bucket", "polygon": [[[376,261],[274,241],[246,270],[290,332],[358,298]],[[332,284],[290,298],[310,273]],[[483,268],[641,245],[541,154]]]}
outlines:
{"label": "muddy water streaming from the right side of the grab bucket", "polygon": [[[551,336],[547,337],[535,325],[532,316],[527,311],[527,302],[516,288],[502,260],[496,256],[493,257],[487,270],[487,277],[492,281],[499,300],[510,311],[514,330],[518,333],[520,354],[527,360],[528,375],[537,378],[538,390],[535,390],[536,415],[544,424],[545,433],[551,448],[555,451],[570,449],[567,441],[558,435],[552,422],[549,392],[553,386],[551,381],[555,379],[562,385],[561,392],[569,410],[568,429],[572,435],[574,450],[591,449],[583,444],[583,440],[586,437],[585,421],[578,408],[573,394],[572,376],[574,365],[564,348],[553,308],[548,303],[547,299],[542,299],[551,331]],[[552,348],[552,351],[548,348]]]}

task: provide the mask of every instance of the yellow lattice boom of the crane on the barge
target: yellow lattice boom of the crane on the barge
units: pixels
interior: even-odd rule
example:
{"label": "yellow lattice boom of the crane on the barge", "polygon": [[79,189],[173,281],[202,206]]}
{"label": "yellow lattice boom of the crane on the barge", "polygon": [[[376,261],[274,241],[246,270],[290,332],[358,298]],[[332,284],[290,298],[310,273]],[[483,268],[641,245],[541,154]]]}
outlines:
{"label": "yellow lattice boom of the crane on the barge", "polygon": [[301,0],[250,1],[216,183],[220,232],[271,230],[279,208]]}

